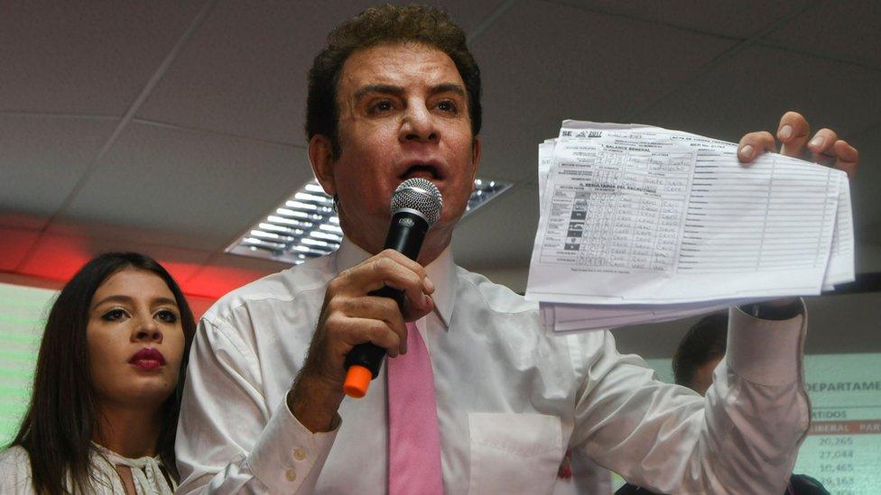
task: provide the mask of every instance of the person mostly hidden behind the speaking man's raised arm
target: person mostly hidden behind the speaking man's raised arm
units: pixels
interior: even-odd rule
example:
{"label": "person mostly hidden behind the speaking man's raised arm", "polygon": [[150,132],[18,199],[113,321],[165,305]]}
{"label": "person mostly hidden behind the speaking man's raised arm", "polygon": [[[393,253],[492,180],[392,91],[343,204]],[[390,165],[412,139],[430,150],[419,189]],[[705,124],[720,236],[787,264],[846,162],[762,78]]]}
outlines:
{"label": "person mostly hidden behind the speaking man's raised arm", "polygon": [[[713,371],[725,357],[728,340],[728,316],[723,313],[700,318],[691,325],[673,355],[673,378],[677,385],[706,395],[713,384]],[[652,492],[627,483],[616,495],[652,495]],[[820,481],[805,474],[793,474],[784,495],[829,495]]]}

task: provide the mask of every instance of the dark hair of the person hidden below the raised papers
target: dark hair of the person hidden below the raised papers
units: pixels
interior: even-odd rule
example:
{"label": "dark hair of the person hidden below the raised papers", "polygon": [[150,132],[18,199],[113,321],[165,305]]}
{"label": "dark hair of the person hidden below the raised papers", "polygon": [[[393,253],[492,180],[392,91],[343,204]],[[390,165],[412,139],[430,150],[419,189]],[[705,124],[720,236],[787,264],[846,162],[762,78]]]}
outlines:
{"label": "dark hair of the person hidden below the raised papers", "polygon": [[722,358],[728,345],[728,314],[714,313],[700,318],[682,337],[673,354],[676,383],[691,388],[695,371],[710,360]]}

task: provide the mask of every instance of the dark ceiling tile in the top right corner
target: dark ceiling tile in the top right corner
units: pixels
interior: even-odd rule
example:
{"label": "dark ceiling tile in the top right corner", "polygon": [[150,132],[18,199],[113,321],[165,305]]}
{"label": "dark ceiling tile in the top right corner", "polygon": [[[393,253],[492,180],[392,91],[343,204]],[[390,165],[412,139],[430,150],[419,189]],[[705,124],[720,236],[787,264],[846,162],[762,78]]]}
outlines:
{"label": "dark ceiling tile in the top right corner", "polygon": [[878,2],[822,2],[770,33],[765,40],[881,69],[879,27],[881,4]]}

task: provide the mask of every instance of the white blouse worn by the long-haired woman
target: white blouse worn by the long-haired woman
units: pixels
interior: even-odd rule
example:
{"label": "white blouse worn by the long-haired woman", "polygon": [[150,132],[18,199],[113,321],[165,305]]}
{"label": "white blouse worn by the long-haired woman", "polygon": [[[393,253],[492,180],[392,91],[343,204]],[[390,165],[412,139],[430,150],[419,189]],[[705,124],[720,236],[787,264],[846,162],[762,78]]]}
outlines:
{"label": "white blouse worn by the long-haired woman", "polygon": [[[95,469],[94,493],[125,494],[123,481],[116,472],[115,466],[126,466],[132,471],[132,481],[137,495],[172,495],[177,483],[166,481],[162,472],[162,460],[156,457],[128,459],[116,454],[101,445],[95,445],[97,453],[92,454],[92,465]],[[67,480],[70,490],[70,478]],[[0,493],[15,495],[31,495],[36,493],[31,482],[31,459],[21,445],[0,452]]]}

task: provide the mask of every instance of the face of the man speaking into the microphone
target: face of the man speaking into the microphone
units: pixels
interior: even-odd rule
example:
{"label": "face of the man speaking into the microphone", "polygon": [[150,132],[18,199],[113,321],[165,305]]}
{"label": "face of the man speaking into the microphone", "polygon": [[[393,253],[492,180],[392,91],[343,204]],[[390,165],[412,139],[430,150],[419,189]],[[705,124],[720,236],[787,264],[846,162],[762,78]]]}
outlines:
{"label": "face of the man speaking into the microphone", "polygon": [[346,234],[367,251],[380,251],[394,189],[404,179],[422,177],[443,197],[430,236],[449,243],[479,158],[465,85],[450,57],[416,43],[357,50],[340,73],[337,105],[338,160],[322,167],[312,149],[310,157],[322,186],[339,197]]}

